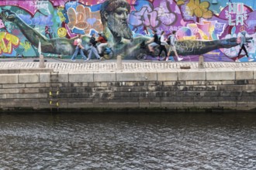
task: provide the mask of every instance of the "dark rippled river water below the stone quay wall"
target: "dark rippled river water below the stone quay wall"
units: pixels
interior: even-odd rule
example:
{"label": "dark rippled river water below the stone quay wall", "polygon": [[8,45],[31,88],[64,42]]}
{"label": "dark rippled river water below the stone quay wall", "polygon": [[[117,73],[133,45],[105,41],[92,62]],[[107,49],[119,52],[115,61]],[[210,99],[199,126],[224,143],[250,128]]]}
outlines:
{"label": "dark rippled river water below the stone quay wall", "polygon": [[0,114],[0,169],[256,169],[256,114]]}

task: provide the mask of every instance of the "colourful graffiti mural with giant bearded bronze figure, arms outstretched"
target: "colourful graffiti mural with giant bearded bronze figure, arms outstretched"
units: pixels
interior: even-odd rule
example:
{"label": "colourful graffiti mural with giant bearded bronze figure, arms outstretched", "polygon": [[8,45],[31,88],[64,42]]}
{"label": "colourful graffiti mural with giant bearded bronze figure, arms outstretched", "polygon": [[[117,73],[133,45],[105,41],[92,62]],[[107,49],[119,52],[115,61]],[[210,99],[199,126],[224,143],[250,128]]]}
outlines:
{"label": "colourful graffiti mural with giant bearded bronze figure, arms outstretched", "polygon": [[[172,49],[168,39],[175,31],[175,49],[183,61],[197,61],[199,55],[206,61],[256,61],[256,2],[216,2],[2,0],[0,56],[39,56],[41,44],[43,56],[71,58],[79,34],[88,55],[92,34],[97,38],[102,33],[107,45],[101,55],[106,59],[158,59],[159,45],[150,49],[153,32],[160,37],[164,31],[164,46]],[[238,56],[243,42],[247,53],[242,50]],[[164,52],[160,56],[165,56]],[[177,60],[172,50],[169,59]]]}

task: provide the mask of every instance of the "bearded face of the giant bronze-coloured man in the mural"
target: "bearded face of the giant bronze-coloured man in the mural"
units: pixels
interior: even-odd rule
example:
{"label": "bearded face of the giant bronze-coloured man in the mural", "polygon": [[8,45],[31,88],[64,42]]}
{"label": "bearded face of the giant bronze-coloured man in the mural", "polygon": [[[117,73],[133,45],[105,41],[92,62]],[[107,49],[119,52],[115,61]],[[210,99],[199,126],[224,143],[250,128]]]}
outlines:
{"label": "bearded face of the giant bronze-coloured man in the mural", "polygon": [[128,14],[128,9],[123,7],[109,13],[107,26],[114,36],[132,39],[133,33],[127,24]]}

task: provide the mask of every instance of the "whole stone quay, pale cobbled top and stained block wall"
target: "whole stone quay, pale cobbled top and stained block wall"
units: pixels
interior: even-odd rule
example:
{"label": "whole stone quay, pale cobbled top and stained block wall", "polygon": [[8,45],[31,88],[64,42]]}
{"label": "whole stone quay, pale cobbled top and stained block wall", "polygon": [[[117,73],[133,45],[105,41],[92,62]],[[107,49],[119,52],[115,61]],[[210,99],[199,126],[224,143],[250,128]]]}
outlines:
{"label": "whole stone quay, pale cobbled top and stained block wall", "polygon": [[[54,61],[54,60],[53,60]],[[64,60],[65,61],[65,60]],[[0,108],[254,109],[256,63],[0,62]],[[180,69],[190,66],[191,69]],[[6,70],[33,70],[8,72]]]}

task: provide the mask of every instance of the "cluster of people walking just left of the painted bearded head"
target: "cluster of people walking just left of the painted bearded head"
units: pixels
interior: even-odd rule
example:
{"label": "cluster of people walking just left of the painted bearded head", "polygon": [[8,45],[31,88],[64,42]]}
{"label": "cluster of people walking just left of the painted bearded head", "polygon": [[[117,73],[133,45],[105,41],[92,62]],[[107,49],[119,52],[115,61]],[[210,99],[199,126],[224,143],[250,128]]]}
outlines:
{"label": "cluster of people walking just left of the painted bearded head", "polygon": [[[90,53],[88,54],[88,58],[85,56],[85,53],[83,51],[85,47],[82,46],[81,34],[79,34],[78,38],[74,39],[75,50],[74,50],[73,56],[71,57],[71,61],[73,62],[75,61],[75,58],[78,56],[78,53],[81,54],[81,56],[85,61],[92,59],[92,54],[94,54],[97,59],[102,59],[100,55],[102,55],[102,50],[105,48],[105,46],[108,45],[108,43],[107,43],[107,39],[105,38],[105,36],[103,36],[102,32],[99,32],[98,34],[99,34],[98,39],[95,38],[96,35],[95,33],[93,33],[89,41],[91,50],[90,50]],[[98,43],[99,45],[97,46]]]}

